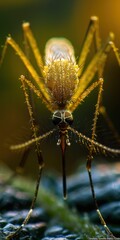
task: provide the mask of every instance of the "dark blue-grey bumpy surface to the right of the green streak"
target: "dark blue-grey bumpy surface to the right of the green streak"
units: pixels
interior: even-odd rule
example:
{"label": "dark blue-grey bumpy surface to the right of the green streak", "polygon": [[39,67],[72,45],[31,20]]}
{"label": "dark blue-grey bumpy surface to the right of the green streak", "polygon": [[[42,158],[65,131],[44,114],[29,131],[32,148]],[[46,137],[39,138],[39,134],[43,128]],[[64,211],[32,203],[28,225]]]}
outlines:
{"label": "dark blue-grey bumpy surface to the right of the green streak", "polygon": [[[93,182],[100,211],[112,230],[120,236],[120,173],[119,167],[115,170],[114,165],[99,165],[93,168]],[[100,224],[100,220],[94,210],[90,183],[87,172],[76,174],[68,179],[68,204],[76,207],[81,213],[87,212],[90,220]]]}

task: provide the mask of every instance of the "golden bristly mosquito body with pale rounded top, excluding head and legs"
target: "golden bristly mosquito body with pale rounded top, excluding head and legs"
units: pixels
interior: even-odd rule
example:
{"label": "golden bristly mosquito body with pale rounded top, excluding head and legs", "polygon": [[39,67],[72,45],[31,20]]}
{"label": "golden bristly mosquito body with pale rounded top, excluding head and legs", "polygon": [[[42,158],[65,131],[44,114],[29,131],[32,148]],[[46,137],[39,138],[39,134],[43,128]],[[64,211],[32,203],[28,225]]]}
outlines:
{"label": "golden bristly mosquito body with pale rounded top, excluding head and legs", "polygon": [[78,85],[78,65],[74,49],[64,38],[53,38],[45,48],[45,84],[52,99],[64,107]]}

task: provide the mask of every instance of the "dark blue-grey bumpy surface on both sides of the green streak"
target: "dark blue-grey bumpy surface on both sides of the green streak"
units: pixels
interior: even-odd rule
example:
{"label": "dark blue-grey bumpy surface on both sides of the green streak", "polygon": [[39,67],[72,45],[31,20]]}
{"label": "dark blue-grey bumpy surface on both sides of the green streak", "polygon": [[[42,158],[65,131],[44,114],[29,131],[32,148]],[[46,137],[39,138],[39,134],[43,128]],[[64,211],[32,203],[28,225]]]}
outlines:
{"label": "dark blue-grey bumpy surface on both sides of the green streak", "polygon": [[[52,189],[51,191],[54,191],[59,196],[62,192],[61,180],[59,180],[49,176],[43,179],[43,185],[46,189]],[[118,171],[101,171],[99,167],[93,168],[93,181],[100,210],[108,226],[118,237],[120,236],[120,174]],[[74,209],[74,211],[77,210],[83,217],[87,213],[90,221],[100,225],[100,220],[94,210],[87,172],[82,169],[80,173],[69,177],[67,183],[67,204],[69,208]],[[62,197],[59,196],[59,198]],[[22,224],[28,213],[31,200],[29,193],[17,190],[12,185],[2,186],[1,184],[0,240],[4,240],[5,236],[14,232]],[[57,213],[55,218],[57,219]],[[42,206],[36,204],[29,222],[22,229],[19,236],[14,239],[83,239],[83,236],[81,237],[74,231],[68,230],[56,219],[51,217]],[[100,227],[102,228],[101,225]],[[84,239],[87,238],[84,237]]]}

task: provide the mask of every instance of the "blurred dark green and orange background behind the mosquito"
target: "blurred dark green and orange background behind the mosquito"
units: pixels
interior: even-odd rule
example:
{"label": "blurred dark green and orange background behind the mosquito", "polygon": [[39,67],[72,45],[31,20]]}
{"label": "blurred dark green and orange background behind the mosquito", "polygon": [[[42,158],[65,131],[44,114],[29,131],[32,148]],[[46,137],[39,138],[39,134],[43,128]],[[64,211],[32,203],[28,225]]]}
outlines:
{"label": "blurred dark green and orange background behind the mosquito", "polygon": [[[23,21],[29,21],[42,55],[44,55],[44,46],[49,38],[66,37],[72,42],[76,57],[78,57],[90,16],[97,15],[100,20],[103,43],[108,33],[113,31],[115,44],[120,49],[119,10],[119,0],[1,0],[0,45],[4,45],[6,36],[11,34],[23,48],[21,24]],[[30,138],[28,112],[18,81],[19,76],[25,73],[26,70],[20,59],[9,47],[0,68],[0,159],[12,168],[17,166],[22,152],[11,153],[9,145],[24,142]],[[116,129],[120,132],[120,69],[112,52],[106,64],[104,78],[103,100]],[[87,98],[86,103],[75,112],[75,125],[86,134],[91,128],[88,116],[90,114],[93,116],[91,108],[92,105],[94,106],[93,95]],[[37,101],[36,105],[40,130],[46,132],[52,128],[51,114],[40,101]],[[70,171],[80,162],[81,150],[75,141],[75,137],[72,137],[72,144],[67,153]],[[57,135],[50,137],[42,143],[42,149],[46,167],[60,170],[60,149],[56,146],[56,142]],[[75,151],[76,159],[74,158]],[[26,172],[30,173],[31,169],[32,172],[36,171],[34,158],[34,154],[31,153]]]}

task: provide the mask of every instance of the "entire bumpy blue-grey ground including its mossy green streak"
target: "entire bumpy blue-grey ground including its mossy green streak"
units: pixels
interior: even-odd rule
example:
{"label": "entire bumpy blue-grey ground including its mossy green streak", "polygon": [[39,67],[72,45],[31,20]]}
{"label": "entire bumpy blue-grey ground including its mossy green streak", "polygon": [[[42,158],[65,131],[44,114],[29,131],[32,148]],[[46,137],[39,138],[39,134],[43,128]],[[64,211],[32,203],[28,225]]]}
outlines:
{"label": "entire bumpy blue-grey ground including its mossy green streak", "polygon": [[[119,237],[120,174],[117,171],[106,171],[104,174],[101,167],[102,165],[99,165],[93,169],[98,204],[108,226],[115,236]],[[7,176],[10,175],[8,170],[4,171]],[[1,181],[0,240],[4,240],[22,224],[35,189],[35,183],[23,177],[14,178],[10,184],[3,183]],[[32,216],[14,239],[84,240],[108,237],[94,210],[85,169],[81,168],[69,177],[67,183],[68,200],[65,202],[61,194],[61,179],[52,175],[44,177]]]}

